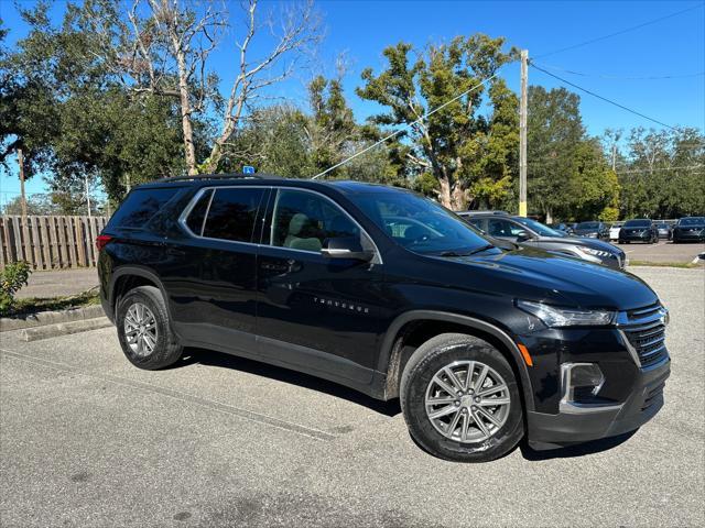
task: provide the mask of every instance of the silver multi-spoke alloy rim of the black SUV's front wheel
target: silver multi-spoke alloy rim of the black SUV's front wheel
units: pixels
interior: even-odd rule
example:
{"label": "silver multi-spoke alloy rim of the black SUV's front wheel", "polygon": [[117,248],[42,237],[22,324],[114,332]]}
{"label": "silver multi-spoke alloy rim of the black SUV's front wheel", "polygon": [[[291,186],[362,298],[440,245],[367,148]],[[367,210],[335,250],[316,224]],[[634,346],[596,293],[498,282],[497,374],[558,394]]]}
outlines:
{"label": "silver multi-spoke alloy rim of the black SUV's front wheel", "polygon": [[479,361],[456,361],[429,382],[426,416],[444,437],[462,443],[487,440],[507,421],[511,398],[502,376]]}

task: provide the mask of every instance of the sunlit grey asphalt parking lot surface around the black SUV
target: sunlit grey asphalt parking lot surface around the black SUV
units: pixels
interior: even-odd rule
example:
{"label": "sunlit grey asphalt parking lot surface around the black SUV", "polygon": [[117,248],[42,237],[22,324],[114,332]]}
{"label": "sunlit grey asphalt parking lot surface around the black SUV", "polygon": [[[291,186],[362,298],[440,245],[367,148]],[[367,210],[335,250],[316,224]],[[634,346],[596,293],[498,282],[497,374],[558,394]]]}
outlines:
{"label": "sunlit grey asphalt parking lot surface around the black SUV", "polygon": [[112,328],[0,339],[0,525],[704,526],[705,274],[640,267],[671,309],[661,413],[630,438],[443,462],[383,404],[189,351],[132,367]]}

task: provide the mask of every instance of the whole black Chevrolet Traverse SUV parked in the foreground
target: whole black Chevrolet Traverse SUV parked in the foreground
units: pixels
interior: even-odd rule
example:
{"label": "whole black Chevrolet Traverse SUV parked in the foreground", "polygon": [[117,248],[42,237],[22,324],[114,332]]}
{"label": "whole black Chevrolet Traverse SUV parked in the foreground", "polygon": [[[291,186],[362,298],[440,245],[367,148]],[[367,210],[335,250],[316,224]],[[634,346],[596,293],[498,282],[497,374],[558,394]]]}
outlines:
{"label": "whole black Chevrolet Traverse SUV parked in the foreground", "polygon": [[134,365],[202,346],[399,397],[413,438],[448,460],[619,435],[663,405],[668,312],[649,286],[501,250],[406,190],[172,178],[133,189],[96,242]]}

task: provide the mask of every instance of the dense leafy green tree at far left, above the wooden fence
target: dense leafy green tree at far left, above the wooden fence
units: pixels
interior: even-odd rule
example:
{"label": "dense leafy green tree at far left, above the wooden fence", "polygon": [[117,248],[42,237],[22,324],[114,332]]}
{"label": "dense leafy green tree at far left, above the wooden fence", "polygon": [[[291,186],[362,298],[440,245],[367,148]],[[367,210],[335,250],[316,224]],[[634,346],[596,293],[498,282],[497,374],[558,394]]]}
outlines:
{"label": "dense leafy green tree at far left, above the wooden fence", "polygon": [[[94,53],[99,35],[83,31],[89,7],[67,4],[57,26],[48,22],[47,4],[21,12],[30,31],[2,63],[2,75],[13,82],[12,97],[3,100],[13,103],[0,107],[12,116],[0,124],[8,128],[1,138],[6,143],[21,139],[32,172],[45,170],[61,196],[83,196],[86,179],[100,180],[118,202],[130,185],[184,172],[180,107],[124,89]],[[193,123],[203,154],[207,124]],[[83,198],[62,202],[73,211]]]}

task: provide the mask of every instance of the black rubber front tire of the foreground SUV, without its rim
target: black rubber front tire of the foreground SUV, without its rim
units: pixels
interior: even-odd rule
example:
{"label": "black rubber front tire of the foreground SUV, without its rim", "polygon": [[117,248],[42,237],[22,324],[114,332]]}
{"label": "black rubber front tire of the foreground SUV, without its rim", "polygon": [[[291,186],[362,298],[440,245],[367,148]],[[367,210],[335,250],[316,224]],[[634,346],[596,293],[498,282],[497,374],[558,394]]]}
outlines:
{"label": "black rubber front tire of the foreground SUV, without its rim", "polygon": [[[481,362],[495,370],[508,387],[510,406],[506,421],[489,438],[474,443],[442,435],[426,415],[425,395],[431,380],[441,369],[455,361]],[[522,400],[509,362],[495,346],[473,336],[444,333],[419,346],[402,373],[400,399],[413,439],[429,453],[441,459],[488,462],[514,449],[524,435]]]}

